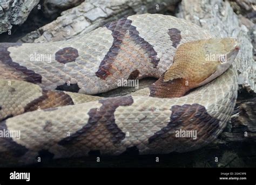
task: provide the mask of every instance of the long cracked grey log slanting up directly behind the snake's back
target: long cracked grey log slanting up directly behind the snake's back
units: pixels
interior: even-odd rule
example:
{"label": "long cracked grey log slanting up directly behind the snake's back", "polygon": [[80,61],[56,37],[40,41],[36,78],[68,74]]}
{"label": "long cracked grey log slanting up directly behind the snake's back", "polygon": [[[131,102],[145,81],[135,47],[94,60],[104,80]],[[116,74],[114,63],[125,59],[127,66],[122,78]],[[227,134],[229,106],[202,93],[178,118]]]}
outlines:
{"label": "long cracked grey log slanting up directly behind the snake's back", "polygon": [[87,0],[75,8],[62,12],[50,24],[23,37],[21,42],[47,42],[69,39],[95,30],[117,18],[136,13],[157,13],[177,4],[179,0],[157,1],[95,1]]}

